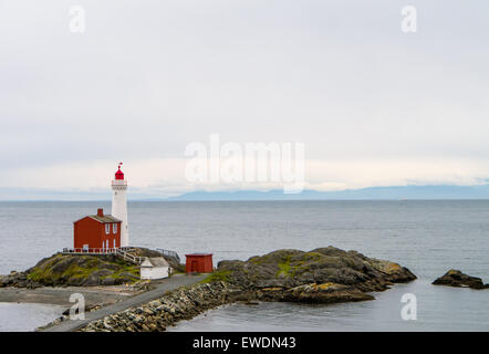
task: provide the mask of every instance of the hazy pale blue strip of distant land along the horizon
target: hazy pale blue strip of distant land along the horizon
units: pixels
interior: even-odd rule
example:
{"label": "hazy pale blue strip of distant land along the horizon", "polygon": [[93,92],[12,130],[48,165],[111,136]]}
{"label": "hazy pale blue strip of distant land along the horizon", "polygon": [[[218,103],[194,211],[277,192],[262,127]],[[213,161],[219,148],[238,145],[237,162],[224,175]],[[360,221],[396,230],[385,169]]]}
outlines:
{"label": "hazy pale blue strip of distant land along the horizon", "polygon": [[[45,190],[0,188],[2,201],[108,201],[103,190]],[[189,192],[160,192],[134,188],[132,201],[259,201],[259,200],[489,200],[489,184],[406,185],[366,187],[360,189],[314,190],[284,194],[282,189],[253,190],[194,190]]]}

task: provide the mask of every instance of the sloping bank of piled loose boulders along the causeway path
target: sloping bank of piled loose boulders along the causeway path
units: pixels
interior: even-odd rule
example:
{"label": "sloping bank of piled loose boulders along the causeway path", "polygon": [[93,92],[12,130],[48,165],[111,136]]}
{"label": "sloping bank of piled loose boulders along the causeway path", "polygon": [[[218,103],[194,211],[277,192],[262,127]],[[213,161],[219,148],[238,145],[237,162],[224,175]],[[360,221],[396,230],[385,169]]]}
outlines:
{"label": "sloping bank of piled loose boulders along the causeway path", "polygon": [[132,308],[94,321],[79,332],[152,332],[165,331],[180,320],[232,302],[239,289],[214,282],[183,288],[138,308]]}

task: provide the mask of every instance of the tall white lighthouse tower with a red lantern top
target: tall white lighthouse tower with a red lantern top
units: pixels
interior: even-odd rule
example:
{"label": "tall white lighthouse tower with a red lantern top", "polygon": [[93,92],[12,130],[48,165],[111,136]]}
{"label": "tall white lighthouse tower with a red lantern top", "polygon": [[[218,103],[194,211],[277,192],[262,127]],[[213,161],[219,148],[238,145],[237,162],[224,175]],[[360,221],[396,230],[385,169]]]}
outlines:
{"label": "tall white lighthouse tower with a red lantern top", "polygon": [[122,221],[121,223],[121,247],[129,246],[129,229],[127,226],[127,180],[121,170],[122,163],[118,164],[118,170],[115,173],[115,179],[112,181],[112,216]]}

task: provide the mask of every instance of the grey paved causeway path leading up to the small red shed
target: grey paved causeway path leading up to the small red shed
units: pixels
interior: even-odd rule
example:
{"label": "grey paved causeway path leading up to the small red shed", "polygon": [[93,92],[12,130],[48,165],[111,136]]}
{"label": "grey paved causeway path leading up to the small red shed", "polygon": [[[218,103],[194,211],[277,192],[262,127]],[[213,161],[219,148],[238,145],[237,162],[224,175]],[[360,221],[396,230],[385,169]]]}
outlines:
{"label": "grey paved causeway path leading up to the small red shed", "polygon": [[162,298],[167,291],[178,289],[184,285],[190,285],[205,279],[207,274],[201,275],[184,275],[175,274],[156,284],[156,289],[135,295],[127,300],[119,301],[112,305],[104,306],[97,311],[86,312],[85,320],[65,320],[58,325],[45,329],[41,332],[72,332],[76,331],[92,321],[101,320],[116,312],[127,310],[129,308],[139,306],[144,303]]}

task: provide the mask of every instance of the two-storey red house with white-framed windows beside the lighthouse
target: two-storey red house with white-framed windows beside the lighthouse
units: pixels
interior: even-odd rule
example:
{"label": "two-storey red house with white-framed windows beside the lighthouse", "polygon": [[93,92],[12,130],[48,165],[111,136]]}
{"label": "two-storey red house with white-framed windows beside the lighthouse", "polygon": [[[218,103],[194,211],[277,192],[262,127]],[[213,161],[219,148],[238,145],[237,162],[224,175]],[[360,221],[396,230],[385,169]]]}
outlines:
{"label": "two-storey red house with white-framed windows beside the lighthouse", "polygon": [[75,251],[104,252],[119,248],[121,223],[119,219],[104,215],[103,209],[97,209],[96,215],[74,221]]}

